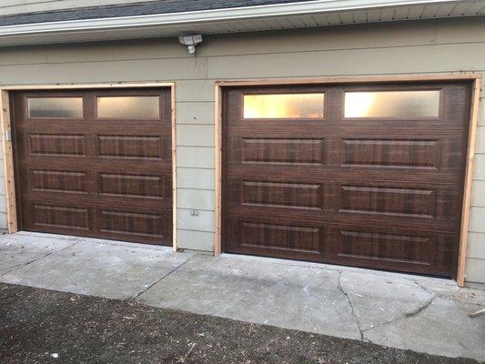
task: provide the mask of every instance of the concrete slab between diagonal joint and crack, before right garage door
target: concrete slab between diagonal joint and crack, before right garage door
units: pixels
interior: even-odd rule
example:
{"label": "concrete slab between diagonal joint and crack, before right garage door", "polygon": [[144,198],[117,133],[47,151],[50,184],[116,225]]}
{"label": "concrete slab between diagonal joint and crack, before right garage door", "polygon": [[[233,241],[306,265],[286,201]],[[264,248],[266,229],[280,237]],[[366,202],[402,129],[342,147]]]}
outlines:
{"label": "concrete slab between diagonal joint and crack, before right garage door", "polygon": [[139,298],[161,308],[360,339],[337,271],[197,256]]}

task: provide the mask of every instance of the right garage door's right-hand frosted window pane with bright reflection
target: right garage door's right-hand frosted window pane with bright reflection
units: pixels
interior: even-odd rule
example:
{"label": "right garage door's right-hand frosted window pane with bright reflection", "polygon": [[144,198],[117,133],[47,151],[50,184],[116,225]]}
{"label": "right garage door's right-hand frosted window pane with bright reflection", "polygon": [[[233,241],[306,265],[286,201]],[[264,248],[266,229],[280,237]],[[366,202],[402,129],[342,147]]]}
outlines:
{"label": "right garage door's right-hand frosted window pane with bright reflection", "polygon": [[440,91],[345,93],[345,117],[416,119],[440,116]]}

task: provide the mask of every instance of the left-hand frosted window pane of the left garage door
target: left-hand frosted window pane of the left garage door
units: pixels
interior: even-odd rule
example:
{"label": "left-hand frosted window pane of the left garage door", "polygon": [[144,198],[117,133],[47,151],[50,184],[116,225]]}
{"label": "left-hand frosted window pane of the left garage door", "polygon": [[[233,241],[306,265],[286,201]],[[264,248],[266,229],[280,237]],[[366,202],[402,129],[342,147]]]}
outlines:
{"label": "left-hand frosted window pane of the left garage door", "polygon": [[82,118],[83,97],[31,97],[28,116]]}

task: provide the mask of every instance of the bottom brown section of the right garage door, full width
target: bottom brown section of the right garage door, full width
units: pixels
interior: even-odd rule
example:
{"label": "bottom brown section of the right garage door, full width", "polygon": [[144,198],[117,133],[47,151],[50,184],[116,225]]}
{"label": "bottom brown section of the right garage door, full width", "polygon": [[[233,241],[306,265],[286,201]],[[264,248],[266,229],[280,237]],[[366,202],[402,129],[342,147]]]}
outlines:
{"label": "bottom brown section of the right garage door, full width", "polygon": [[453,266],[453,234],[264,217],[228,218],[227,226],[233,252],[430,274],[446,274]]}

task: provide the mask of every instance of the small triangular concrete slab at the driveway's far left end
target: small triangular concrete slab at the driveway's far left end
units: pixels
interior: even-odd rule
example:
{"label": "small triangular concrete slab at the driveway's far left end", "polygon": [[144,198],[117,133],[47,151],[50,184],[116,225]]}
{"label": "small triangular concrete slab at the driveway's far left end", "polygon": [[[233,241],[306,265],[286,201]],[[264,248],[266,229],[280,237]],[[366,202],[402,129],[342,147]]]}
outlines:
{"label": "small triangular concrete slab at the driveway's far left end", "polygon": [[0,275],[76,244],[72,240],[19,235],[4,235],[0,241]]}

